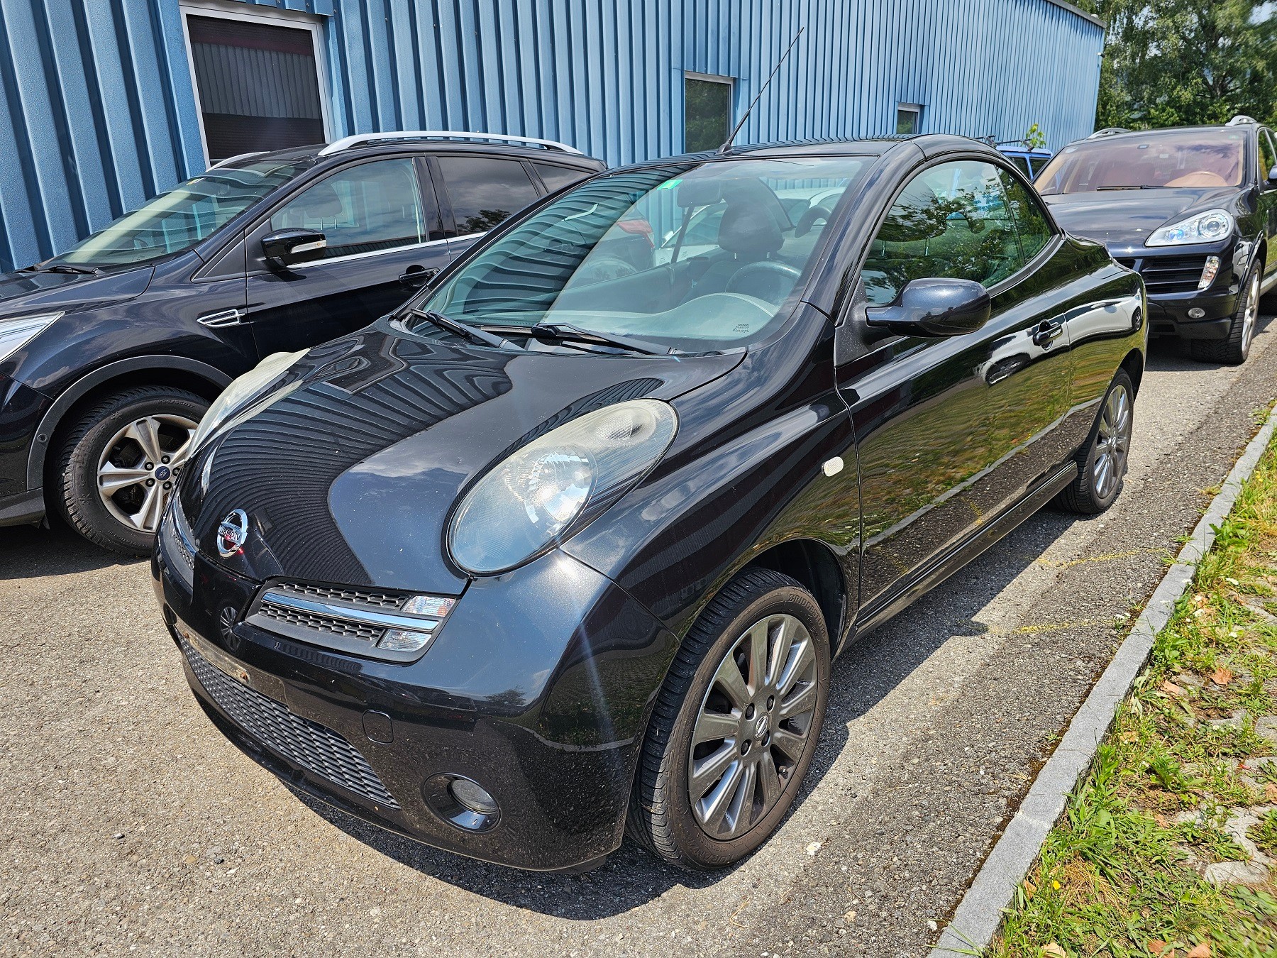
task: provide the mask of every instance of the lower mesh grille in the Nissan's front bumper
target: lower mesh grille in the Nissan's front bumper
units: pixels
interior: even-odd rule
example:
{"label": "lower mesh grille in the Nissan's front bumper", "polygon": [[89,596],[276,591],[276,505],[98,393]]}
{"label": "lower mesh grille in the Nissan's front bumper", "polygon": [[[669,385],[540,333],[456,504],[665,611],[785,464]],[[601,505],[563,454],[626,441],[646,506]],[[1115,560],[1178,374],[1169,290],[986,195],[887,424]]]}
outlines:
{"label": "lower mesh grille in the Nissan's front bumper", "polygon": [[400,807],[368,760],[340,734],[294,715],[275,699],[236,682],[185,639],[181,640],[181,650],[204,691],[257,742],[349,792],[388,809]]}

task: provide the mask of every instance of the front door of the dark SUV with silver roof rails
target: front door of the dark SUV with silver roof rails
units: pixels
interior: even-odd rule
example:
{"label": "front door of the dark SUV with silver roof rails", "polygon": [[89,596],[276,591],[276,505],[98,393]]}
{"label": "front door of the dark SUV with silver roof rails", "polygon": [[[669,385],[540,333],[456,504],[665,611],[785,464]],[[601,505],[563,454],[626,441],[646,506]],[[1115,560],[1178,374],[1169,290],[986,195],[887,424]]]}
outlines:
{"label": "front door of the dark SUV with silver roof rails", "polygon": [[[272,267],[262,238],[290,227],[322,232],[322,257]],[[246,261],[246,318],[262,355],[366,326],[450,262],[429,171],[404,155],[342,166],[261,222],[248,238]]]}

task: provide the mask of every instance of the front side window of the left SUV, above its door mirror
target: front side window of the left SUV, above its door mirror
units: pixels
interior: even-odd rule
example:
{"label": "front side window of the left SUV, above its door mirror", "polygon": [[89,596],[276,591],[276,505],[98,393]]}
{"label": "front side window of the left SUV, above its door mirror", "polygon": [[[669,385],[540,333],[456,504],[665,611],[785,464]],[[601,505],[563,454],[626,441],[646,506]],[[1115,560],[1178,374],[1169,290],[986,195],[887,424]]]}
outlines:
{"label": "front side window of the left SUV, above its door mirror", "polygon": [[414,161],[378,160],[308,186],[271,217],[271,229],[318,230],[331,259],[423,243],[430,218]]}

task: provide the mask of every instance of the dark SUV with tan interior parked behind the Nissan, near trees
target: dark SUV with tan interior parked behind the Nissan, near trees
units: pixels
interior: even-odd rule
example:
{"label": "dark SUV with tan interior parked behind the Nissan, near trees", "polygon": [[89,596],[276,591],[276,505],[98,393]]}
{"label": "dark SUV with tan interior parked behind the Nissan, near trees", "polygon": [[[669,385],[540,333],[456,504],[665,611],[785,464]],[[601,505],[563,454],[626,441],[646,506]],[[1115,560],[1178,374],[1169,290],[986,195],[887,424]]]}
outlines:
{"label": "dark SUV with tan interior parked behind the Nissan, near trees", "polygon": [[1244,363],[1277,282],[1277,148],[1249,116],[1223,126],[1110,128],[1061,149],[1034,185],[1069,232],[1099,240],[1148,290],[1152,333]]}

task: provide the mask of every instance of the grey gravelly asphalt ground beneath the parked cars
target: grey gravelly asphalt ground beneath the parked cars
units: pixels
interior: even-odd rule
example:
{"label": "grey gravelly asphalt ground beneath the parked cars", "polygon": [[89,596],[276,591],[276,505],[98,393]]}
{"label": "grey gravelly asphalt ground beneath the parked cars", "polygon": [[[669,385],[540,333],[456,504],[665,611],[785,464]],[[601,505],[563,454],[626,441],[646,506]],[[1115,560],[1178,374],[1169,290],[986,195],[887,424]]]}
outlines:
{"label": "grey gravelly asphalt ground beneath the parked cars", "polygon": [[195,705],[146,563],[0,529],[0,952],[922,955],[1277,396],[1274,340],[1154,346],[1114,510],[1039,513],[844,655],[807,792],[716,875],[508,871],[300,800]]}

